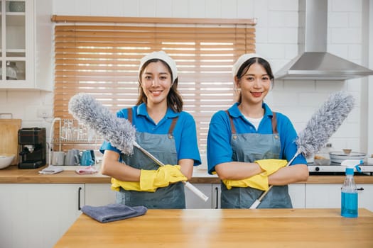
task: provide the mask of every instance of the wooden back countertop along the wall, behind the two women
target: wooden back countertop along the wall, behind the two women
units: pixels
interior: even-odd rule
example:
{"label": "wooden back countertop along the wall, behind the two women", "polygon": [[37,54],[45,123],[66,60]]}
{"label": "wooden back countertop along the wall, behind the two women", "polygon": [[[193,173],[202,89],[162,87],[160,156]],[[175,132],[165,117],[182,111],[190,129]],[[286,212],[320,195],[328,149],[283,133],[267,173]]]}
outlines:
{"label": "wooden back countertop along the wall, behind the two women", "polygon": [[[0,184],[109,184],[109,176],[100,173],[77,174],[75,170],[65,170],[58,174],[38,174],[38,169],[18,169],[15,165],[0,169]],[[354,176],[357,184],[373,184],[373,176]],[[345,176],[309,176],[308,181],[299,184],[342,184]],[[217,176],[207,171],[195,169],[191,184],[219,184]]]}

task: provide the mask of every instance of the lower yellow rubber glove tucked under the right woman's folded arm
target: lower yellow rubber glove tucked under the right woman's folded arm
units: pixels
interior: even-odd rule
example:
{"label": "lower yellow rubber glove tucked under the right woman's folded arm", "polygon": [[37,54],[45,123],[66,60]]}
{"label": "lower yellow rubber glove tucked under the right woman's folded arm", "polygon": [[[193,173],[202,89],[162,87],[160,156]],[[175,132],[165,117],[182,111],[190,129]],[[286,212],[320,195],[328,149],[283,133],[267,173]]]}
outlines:
{"label": "lower yellow rubber glove tucked under the right woman's folded arm", "polygon": [[222,180],[225,186],[227,186],[228,189],[231,189],[232,187],[251,187],[251,188],[257,188],[261,191],[266,191],[269,188],[268,185],[268,176],[263,174],[257,174],[251,177],[248,177],[247,179],[241,179],[241,180],[229,180],[225,179]]}

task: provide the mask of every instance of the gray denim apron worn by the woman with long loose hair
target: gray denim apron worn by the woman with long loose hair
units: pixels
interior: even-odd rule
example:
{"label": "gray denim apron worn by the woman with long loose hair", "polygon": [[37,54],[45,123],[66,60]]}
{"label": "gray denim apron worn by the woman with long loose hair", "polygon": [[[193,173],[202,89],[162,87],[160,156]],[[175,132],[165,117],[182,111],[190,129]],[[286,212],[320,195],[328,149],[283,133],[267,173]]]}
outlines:
{"label": "gray denim apron worn by the woman with long loose hair", "polygon": [[[128,120],[132,123],[132,109],[128,109]],[[173,118],[168,134],[154,135],[150,133],[136,133],[136,142],[141,147],[153,154],[163,164],[178,164],[173,128],[178,118]],[[136,169],[156,170],[158,164],[153,162],[141,150],[134,147],[134,154],[122,154],[123,161]],[[184,185],[181,182],[158,188],[156,192],[126,191],[121,188],[117,192],[117,203],[129,206],[144,205],[146,208],[185,208]]]}

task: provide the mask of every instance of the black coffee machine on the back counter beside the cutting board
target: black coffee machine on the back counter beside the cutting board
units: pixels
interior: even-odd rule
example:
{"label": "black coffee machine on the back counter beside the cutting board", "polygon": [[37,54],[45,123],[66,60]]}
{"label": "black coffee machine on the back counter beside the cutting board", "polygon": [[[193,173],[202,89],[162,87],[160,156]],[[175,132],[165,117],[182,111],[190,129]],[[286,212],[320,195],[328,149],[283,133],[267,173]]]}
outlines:
{"label": "black coffee machine on the back counter beside the cutting board", "polygon": [[45,128],[22,128],[18,130],[19,169],[35,169],[46,164],[47,143]]}

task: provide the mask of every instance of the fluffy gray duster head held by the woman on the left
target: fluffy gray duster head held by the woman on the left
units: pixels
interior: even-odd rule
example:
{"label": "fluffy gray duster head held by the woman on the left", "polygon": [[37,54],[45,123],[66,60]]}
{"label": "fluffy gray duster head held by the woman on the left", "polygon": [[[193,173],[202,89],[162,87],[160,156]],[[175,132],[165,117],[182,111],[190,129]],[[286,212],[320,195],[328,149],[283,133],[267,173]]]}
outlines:
{"label": "fluffy gray duster head held by the woman on the left", "polygon": [[95,130],[124,154],[132,154],[136,129],[128,120],[117,118],[109,108],[102,106],[88,94],[77,94],[69,101],[69,113],[80,123]]}

